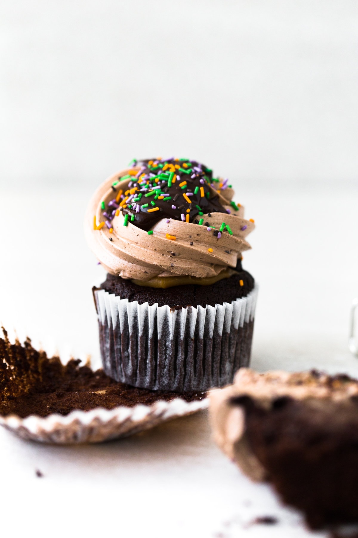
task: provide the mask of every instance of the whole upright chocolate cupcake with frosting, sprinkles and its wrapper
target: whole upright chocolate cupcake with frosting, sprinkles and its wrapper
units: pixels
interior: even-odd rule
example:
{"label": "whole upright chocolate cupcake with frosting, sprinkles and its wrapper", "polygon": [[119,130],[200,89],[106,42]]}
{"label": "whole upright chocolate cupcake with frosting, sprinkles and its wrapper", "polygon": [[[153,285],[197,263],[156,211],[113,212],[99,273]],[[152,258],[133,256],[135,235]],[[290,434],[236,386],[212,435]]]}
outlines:
{"label": "whole upright chocolate cupcake with frosting, sprinkles and its wrapper", "polygon": [[99,187],[87,241],[108,376],[150,390],[231,383],[250,360],[257,288],[243,271],[253,220],[228,180],[187,159],[133,161]]}

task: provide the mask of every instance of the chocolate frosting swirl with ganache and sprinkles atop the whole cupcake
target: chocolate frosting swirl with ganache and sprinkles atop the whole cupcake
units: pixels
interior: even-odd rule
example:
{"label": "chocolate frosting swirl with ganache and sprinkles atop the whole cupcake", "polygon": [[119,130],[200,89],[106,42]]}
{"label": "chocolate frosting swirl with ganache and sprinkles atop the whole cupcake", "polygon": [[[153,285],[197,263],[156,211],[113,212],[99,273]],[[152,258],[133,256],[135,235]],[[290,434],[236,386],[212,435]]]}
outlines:
{"label": "chocolate frosting swirl with ganache and sprinkles atop the whole cupcake", "polygon": [[254,229],[227,183],[196,161],[134,161],[92,196],[87,242],[101,265],[122,278],[216,277],[236,267]]}

